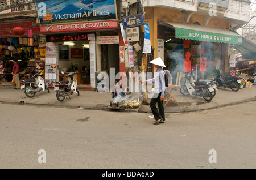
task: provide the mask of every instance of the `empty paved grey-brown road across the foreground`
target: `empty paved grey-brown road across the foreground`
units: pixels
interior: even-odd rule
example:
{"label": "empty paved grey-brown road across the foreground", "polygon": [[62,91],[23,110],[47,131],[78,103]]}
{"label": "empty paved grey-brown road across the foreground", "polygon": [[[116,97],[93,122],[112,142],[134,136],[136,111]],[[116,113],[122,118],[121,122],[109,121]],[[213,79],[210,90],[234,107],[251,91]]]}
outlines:
{"label": "empty paved grey-brown road across the foreground", "polygon": [[0,168],[256,168],[255,106],[168,113],[152,125],[148,113],[0,104]]}

